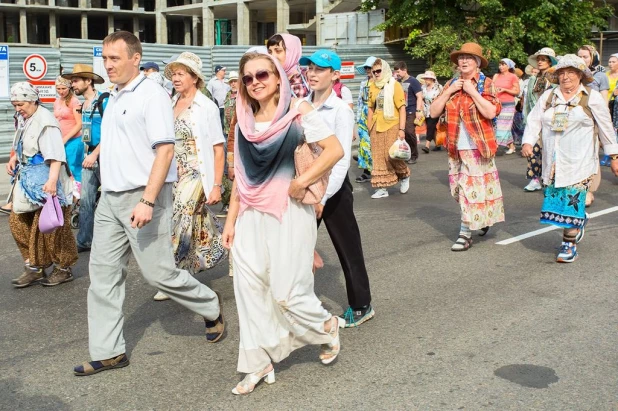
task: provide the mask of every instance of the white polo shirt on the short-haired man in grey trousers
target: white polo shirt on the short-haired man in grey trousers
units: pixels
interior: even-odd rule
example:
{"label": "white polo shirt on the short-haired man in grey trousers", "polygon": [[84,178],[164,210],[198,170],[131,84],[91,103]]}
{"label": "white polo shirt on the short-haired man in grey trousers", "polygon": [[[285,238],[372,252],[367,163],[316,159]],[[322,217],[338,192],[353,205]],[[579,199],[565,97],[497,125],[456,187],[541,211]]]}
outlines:
{"label": "white polo shirt on the short-haired man in grey trousers", "polygon": [[[158,144],[174,144],[174,113],[166,91],[140,73],[110,93],[101,123],[101,189],[122,192],[145,187]],[[176,161],[165,178],[176,181]]]}

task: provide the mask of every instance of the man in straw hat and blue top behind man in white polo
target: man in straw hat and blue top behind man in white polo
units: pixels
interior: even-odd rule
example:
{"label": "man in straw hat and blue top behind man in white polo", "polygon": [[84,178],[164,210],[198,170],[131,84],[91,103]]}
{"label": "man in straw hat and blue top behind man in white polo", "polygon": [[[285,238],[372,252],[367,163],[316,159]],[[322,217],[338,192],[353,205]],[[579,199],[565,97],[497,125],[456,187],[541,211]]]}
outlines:
{"label": "man in straw hat and blue top behind man in white polo", "polygon": [[99,171],[99,142],[101,141],[101,121],[107,106],[109,93],[101,93],[94,88],[103,84],[103,77],[94,73],[92,66],[75,64],[73,72],[62,77],[71,80],[71,87],[78,96],[83,96],[82,104],[82,140],[85,143],[86,156],[82,163],[82,191],[79,201],[79,232],[77,233],[77,251],[89,251],[92,244],[94,228],[94,209],[96,197],[101,188]]}

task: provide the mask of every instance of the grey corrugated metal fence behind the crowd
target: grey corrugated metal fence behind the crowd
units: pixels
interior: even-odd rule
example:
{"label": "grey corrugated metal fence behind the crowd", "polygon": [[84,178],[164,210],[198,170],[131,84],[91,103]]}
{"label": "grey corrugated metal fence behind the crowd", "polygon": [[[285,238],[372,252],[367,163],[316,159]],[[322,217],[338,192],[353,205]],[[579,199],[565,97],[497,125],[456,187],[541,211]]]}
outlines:
{"label": "grey corrugated metal fence behind the crowd", "polygon": [[[60,73],[62,67],[65,72],[70,72],[77,63],[92,64],[93,47],[100,46],[101,41],[64,39],[59,40],[59,48],[51,47],[13,47],[9,49],[9,66],[11,84],[18,81],[26,81],[22,70],[24,59],[29,54],[41,54],[48,63],[45,80],[53,80]],[[163,60],[183,51],[191,51],[202,59],[202,72],[206,79],[213,76],[213,67],[221,64],[227,67],[228,72],[238,69],[238,63],[243,53],[249,46],[176,46],[144,44],[142,61],[154,61],[163,69]],[[320,47],[308,46],[303,48],[303,54],[309,55]],[[426,64],[422,60],[412,60],[401,47],[386,45],[345,45],[337,48],[337,53],[342,61],[353,61],[355,65],[365,62],[368,56],[376,56],[385,59],[391,64],[396,61],[405,61],[408,71],[412,75],[425,71]],[[344,84],[350,88],[356,99],[362,76],[357,75],[354,79],[344,80]],[[51,109],[51,105],[46,105]],[[0,99],[0,161],[6,161],[11,148],[14,134],[13,107],[7,99]]]}

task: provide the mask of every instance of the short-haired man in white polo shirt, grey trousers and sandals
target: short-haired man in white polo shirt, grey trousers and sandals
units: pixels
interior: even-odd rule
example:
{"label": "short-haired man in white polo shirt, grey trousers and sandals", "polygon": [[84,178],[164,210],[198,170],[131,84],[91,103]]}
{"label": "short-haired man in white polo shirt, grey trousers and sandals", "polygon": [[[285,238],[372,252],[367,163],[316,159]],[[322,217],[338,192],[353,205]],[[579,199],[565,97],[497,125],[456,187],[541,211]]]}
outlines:
{"label": "short-haired man in white polo shirt, grey trousers and sandals", "polygon": [[174,119],[165,90],[139,71],[142,46],[117,31],[103,40],[103,61],[111,92],[101,125],[102,193],[94,220],[88,289],[88,330],[92,360],[75,375],[129,365],[123,337],[122,305],[130,252],[149,284],[206,322],[206,338],[224,332],[220,299],[172,254]]}

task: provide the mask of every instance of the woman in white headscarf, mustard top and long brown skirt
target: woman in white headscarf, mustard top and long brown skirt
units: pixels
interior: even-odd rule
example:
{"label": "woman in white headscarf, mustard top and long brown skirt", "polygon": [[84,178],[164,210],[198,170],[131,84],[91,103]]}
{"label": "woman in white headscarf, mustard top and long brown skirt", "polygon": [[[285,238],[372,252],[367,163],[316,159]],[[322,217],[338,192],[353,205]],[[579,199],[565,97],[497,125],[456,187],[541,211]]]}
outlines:
{"label": "woman in white headscarf, mustard top and long brown skirt", "polygon": [[387,187],[401,181],[399,192],[410,188],[410,170],[403,160],[390,158],[388,149],[397,139],[405,141],[406,100],[403,87],[393,78],[389,64],[376,59],[371,67],[374,80],[369,83],[367,124],[371,135],[371,198],[388,197]]}

